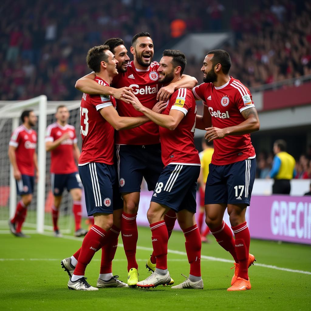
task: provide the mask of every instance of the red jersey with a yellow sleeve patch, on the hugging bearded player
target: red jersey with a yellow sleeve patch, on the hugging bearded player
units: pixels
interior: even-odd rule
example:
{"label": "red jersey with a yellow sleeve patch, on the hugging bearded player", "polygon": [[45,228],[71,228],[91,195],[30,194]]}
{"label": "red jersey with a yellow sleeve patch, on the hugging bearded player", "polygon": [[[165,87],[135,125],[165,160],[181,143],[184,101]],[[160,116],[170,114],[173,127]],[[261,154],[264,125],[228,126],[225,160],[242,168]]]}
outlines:
{"label": "red jersey with a yellow sleeve patch, on the hugging bearded player", "polygon": [[201,165],[199,152],[194,145],[194,129],[197,105],[191,90],[180,88],[169,98],[162,114],[176,109],[185,114],[174,131],[160,128],[162,162],[168,164]]}

